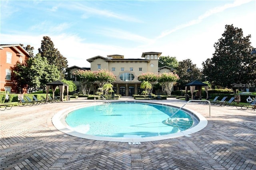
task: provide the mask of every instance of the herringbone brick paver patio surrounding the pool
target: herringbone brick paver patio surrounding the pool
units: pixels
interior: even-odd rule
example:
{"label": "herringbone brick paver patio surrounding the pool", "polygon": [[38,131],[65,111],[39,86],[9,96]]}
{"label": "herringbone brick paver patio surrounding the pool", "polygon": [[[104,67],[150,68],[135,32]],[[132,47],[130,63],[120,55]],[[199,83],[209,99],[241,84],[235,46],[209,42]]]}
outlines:
{"label": "herringbone brick paver patio surrounding the pool", "polygon": [[[123,98],[122,100],[130,100]],[[256,111],[188,104],[208,125],[190,137],[128,143],[94,141],[58,131],[58,111],[90,100],[77,99],[0,111],[0,169],[256,170]],[[156,102],[182,106],[176,99]]]}

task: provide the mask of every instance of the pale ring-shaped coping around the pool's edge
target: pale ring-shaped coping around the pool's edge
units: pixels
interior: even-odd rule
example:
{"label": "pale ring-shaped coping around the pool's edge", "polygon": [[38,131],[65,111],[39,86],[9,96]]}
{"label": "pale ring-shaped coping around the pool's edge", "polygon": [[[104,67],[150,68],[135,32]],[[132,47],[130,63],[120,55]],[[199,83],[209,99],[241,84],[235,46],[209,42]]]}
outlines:
{"label": "pale ring-shaped coping around the pool's edge", "polygon": [[[113,102],[118,102],[118,101],[113,101]],[[122,102],[122,101],[120,101],[120,102]],[[152,104],[172,106],[172,107],[177,108],[177,106],[173,106],[171,104],[159,104],[154,101],[150,101],[150,102],[143,101],[142,102],[142,101],[134,101],[134,100],[129,101],[128,100],[126,102],[152,103]],[[200,113],[197,113],[196,111],[193,111],[191,109],[183,109],[183,110],[193,113],[194,116],[196,116],[198,118],[199,122],[196,126],[190,128],[190,129],[187,129],[185,131],[178,132],[178,133],[155,136],[155,137],[141,137],[141,138],[139,138],[139,137],[136,137],[136,138],[135,137],[134,138],[122,137],[121,138],[121,137],[100,137],[100,136],[94,136],[94,135],[86,135],[86,134],[74,131],[66,123],[66,121],[65,121],[66,115],[68,113],[70,113],[71,111],[80,109],[83,107],[100,105],[103,103],[106,103],[106,102],[104,102],[104,101],[103,102],[94,102],[94,103],[90,103],[90,104],[82,104],[82,105],[63,109],[62,111],[59,111],[52,117],[52,124],[55,126],[56,129],[58,129],[59,131],[61,131],[63,133],[66,133],[68,135],[72,135],[72,136],[80,137],[80,138],[84,138],[84,139],[91,139],[91,140],[97,140],[97,141],[113,141],[113,142],[148,142],[148,141],[160,141],[160,140],[165,140],[165,139],[172,139],[172,138],[183,137],[183,136],[190,137],[190,134],[196,133],[196,132],[204,129],[204,127],[206,127],[206,125],[208,124],[208,121],[204,116],[202,116]]]}

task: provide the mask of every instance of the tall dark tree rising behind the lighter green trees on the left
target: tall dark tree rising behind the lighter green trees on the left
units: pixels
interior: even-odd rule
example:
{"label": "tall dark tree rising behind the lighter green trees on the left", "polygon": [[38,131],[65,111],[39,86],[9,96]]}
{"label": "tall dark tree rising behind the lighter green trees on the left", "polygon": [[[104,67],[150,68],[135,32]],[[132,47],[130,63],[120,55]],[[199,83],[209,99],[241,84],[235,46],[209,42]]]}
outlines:
{"label": "tall dark tree rising behind the lighter green trees on the left", "polygon": [[57,66],[60,74],[62,73],[63,68],[68,67],[67,59],[60,54],[58,49],[54,48],[54,44],[50,37],[43,37],[41,47],[38,49],[38,52],[42,57],[45,57],[48,60],[49,64]]}

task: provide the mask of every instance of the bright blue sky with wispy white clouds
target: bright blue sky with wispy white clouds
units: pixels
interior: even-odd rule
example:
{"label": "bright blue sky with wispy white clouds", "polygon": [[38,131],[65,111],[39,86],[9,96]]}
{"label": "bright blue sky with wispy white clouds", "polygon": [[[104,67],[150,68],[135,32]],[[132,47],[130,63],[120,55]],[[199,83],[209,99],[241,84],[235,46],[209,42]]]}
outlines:
{"label": "bright blue sky with wispy white clouds", "polygon": [[1,0],[0,18],[0,44],[31,45],[36,55],[48,36],[69,67],[160,52],[202,68],[231,24],[256,48],[256,0]]}

